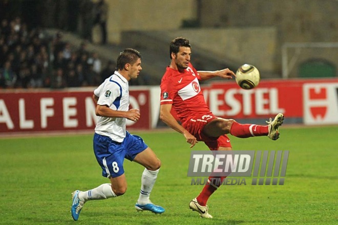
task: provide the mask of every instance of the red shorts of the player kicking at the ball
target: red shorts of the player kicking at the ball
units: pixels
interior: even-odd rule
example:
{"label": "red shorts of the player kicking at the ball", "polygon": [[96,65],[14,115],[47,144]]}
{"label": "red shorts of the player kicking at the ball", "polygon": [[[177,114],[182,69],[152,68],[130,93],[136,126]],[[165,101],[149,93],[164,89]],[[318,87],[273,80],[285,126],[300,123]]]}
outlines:
{"label": "red shorts of the player kicking at the ball", "polygon": [[197,141],[204,142],[210,150],[218,150],[219,147],[230,147],[230,139],[226,134],[220,137],[208,137],[203,133],[203,128],[206,124],[210,123],[212,120],[217,119],[212,114],[209,115],[197,115],[186,118],[182,121],[182,126],[193,134]]}

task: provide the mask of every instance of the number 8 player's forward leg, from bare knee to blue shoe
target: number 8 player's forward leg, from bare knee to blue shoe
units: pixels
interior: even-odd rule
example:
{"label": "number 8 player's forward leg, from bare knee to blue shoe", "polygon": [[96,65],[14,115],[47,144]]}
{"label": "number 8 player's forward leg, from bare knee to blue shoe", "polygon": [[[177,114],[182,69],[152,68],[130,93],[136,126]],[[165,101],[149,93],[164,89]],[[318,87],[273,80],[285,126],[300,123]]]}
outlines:
{"label": "number 8 player's forward leg, from bare knee to blue shoe", "polygon": [[150,193],[155,185],[161,161],[149,147],[138,153],[134,161],[145,167],[141,178],[140,195],[135,209],[138,211],[148,210],[153,213],[163,213],[165,210],[162,207],[156,206],[150,201]]}

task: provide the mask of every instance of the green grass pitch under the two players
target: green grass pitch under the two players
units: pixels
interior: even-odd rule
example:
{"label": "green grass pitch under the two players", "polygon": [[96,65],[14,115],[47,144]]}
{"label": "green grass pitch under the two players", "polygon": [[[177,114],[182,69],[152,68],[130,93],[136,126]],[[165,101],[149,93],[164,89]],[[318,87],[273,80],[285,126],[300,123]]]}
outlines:
{"label": "green grass pitch under the two players", "polygon": [[[234,150],[289,150],[283,186],[221,186],[208,201],[213,219],[199,218],[189,201],[191,149],[174,131],[132,132],[156,152],[162,167],[151,199],[162,215],[137,213],[143,167],[125,161],[128,190],[120,197],[89,201],[79,220],[70,214],[71,192],[88,190],[101,176],[92,134],[0,139],[0,224],[337,224],[338,127],[282,127],[281,138],[231,138]],[[193,150],[207,150],[198,143]]]}

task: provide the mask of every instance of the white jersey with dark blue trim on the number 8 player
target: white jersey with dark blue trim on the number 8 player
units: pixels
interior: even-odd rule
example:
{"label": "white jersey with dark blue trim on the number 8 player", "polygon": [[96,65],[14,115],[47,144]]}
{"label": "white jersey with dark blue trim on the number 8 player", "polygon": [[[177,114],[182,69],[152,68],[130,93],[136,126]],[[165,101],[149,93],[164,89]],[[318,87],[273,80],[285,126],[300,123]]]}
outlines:
{"label": "white jersey with dark blue trim on the number 8 player", "polygon": [[[94,95],[99,97],[97,104],[107,105],[113,110],[129,110],[129,85],[128,81],[117,71],[105,79],[95,89]],[[99,117],[95,132],[102,136],[108,136],[113,141],[121,143],[125,137],[126,118]]]}

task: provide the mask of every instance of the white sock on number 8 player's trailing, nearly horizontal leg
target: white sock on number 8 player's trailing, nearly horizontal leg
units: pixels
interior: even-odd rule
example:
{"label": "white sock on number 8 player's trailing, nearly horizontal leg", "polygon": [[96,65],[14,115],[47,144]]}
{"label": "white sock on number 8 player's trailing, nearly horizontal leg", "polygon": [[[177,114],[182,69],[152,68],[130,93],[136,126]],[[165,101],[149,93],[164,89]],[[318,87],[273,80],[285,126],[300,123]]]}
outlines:
{"label": "white sock on number 8 player's trailing, nearly horizontal leg", "polygon": [[100,200],[116,197],[116,194],[113,192],[111,184],[102,184],[92,190],[79,192],[78,197],[81,201],[86,202],[88,200]]}

